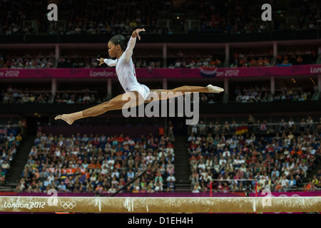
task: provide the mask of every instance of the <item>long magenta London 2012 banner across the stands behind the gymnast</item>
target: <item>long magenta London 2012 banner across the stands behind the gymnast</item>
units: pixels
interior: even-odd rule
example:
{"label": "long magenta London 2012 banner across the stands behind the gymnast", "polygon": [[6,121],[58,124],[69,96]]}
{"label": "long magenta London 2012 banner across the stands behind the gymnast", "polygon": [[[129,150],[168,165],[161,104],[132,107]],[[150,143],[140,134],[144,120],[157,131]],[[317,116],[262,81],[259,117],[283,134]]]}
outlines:
{"label": "long magenta London 2012 banner across the stands behind the gymnast", "polygon": [[[208,71],[208,73],[206,73]],[[321,74],[321,64],[250,68],[136,68],[138,78],[234,78],[311,76]],[[0,78],[116,78],[115,68],[0,69]]]}

